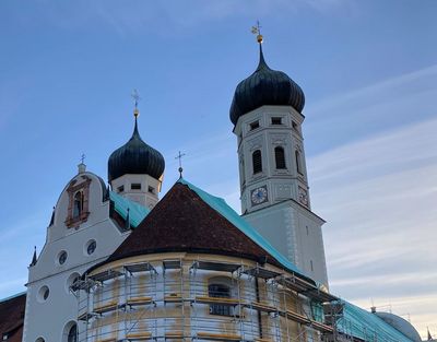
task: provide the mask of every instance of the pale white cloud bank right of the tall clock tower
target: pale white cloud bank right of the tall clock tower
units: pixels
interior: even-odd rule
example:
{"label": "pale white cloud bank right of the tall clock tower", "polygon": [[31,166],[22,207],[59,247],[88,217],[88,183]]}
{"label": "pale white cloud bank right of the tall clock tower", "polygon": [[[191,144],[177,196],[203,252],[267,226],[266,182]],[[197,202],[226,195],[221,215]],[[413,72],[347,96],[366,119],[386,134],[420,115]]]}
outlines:
{"label": "pale white cloud bank right of the tall clock tower", "polygon": [[[308,161],[331,290],[366,306],[390,302],[422,332],[437,306],[436,132],[430,119]],[[418,296],[433,305],[405,302]]]}

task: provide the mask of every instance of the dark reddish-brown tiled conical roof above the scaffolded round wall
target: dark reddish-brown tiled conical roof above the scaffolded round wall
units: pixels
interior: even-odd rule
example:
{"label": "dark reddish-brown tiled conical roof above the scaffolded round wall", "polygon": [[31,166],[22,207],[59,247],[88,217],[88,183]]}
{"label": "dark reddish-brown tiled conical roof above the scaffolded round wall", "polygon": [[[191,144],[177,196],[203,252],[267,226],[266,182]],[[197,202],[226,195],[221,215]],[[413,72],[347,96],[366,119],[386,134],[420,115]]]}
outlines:
{"label": "dark reddish-brown tiled conical roof above the scaffolded round wall", "polygon": [[280,264],[180,182],[172,187],[108,261],[165,251],[227,255],[257,261],[268,257],[270,263]]}

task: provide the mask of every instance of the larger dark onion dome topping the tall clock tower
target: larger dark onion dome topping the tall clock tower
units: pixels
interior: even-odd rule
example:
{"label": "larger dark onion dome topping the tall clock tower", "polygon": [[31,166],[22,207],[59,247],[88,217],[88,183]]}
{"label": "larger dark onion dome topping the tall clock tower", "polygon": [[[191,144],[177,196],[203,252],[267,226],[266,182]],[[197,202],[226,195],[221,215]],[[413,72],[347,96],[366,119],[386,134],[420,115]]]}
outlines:
{"label": "larger dark onion dome topping the tall clock tower", "polygon": [[285,72],[269,68],[260,44],[260,60],[257,70],[243,80],[235,90],[229,110],[231,121],[236,125],[240,116],[264,105],[292,106],[302,113],[305,95],[300,86]]}

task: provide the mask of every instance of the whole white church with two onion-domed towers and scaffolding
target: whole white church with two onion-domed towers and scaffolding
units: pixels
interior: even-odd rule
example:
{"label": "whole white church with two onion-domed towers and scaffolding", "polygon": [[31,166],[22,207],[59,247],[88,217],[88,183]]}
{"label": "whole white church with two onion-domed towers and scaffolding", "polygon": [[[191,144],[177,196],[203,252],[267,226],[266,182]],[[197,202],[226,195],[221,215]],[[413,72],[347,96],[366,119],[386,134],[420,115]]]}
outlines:
{"label": "whole white church with two onion-domed towers and scaffolding", "polygon": [[165,161],[141,139],[135,104],[108,184],[82,162],[61,191],[26,293],[0,302],[2,341],[421,341],[402,318],[329,292],[305,95],[258,43],[229,110],[243,214],[181,168],[160,200]]}

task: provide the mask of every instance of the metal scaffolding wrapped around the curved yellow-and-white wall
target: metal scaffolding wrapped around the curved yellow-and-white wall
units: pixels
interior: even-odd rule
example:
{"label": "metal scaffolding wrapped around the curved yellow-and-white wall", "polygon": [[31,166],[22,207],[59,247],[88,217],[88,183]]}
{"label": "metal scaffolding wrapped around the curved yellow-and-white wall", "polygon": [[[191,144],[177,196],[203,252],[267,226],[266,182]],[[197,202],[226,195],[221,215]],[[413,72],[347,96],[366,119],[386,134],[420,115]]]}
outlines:
{"label": "metal scaffolding wrapped around the curved yellow-and-white wall", "polygon": [[[211,291],[217,280],[228,285],[225,295]],[[259,264],[144,261],[85,275],[71,290],[81,342],[316,342],[335,332],[336,317],[315,315],[311,303],[336,297]]]}

